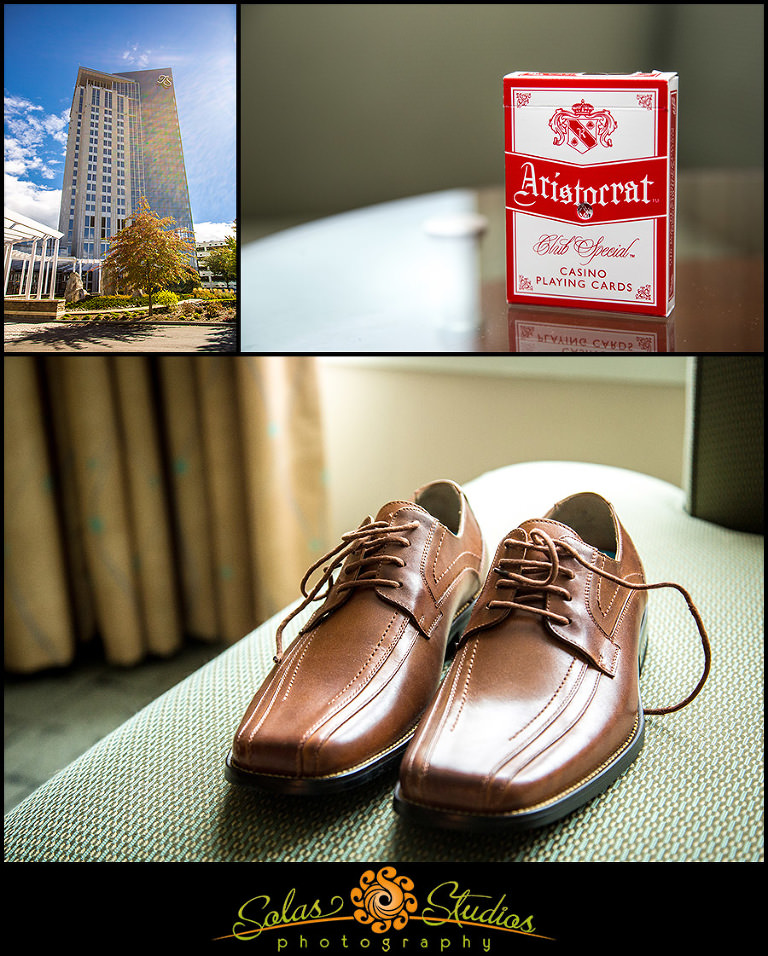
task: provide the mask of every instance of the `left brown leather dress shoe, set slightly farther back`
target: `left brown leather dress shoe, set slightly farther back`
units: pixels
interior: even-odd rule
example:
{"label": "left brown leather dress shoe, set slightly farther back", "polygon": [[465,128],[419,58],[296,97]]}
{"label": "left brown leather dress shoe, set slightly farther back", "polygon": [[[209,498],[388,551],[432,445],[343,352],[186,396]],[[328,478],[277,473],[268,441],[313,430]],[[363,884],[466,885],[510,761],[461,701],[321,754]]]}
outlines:
{"label": "left brown leather dress shoe, set slightly farther back", "polygon": [[[480,527],[451,481],[390,502],[343,535],[307,572],[304,602],[278,629],[275,667],[235,734],[227,778],[322,794],[399,760],[469,618],[483,561]],[[283,656],[285,624],[322,598]]]}

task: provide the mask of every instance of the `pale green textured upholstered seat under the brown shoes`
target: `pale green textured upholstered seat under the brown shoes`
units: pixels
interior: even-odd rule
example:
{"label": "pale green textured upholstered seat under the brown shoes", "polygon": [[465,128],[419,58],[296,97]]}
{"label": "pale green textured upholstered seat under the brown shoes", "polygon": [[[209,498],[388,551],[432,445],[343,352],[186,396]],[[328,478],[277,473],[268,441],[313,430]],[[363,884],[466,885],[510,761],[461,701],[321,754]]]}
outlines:
{"label": "pale green textured upholstered seat under the brown shoes", "polygon": [[[440,476],[425,476],[440,477]],[[686,512],[682,489],[572,462],[510,465],[466,486],[488,547],[577,491],[612,501],[649,581],[692,594],[712,644],[700,696],[649,717],[639,758],[570,817],[522,835],[415,828],[392,810],[394,774],[341,796],[262,796],[224,759],[271,666],[284,616],[162,695],[5,817],[7,862],[713,861],[763,858],[763,537]],[[310,609],[294,619],[290,640]],[[702,651],[682,599],[650,596],[646,706],[681,699]]]}

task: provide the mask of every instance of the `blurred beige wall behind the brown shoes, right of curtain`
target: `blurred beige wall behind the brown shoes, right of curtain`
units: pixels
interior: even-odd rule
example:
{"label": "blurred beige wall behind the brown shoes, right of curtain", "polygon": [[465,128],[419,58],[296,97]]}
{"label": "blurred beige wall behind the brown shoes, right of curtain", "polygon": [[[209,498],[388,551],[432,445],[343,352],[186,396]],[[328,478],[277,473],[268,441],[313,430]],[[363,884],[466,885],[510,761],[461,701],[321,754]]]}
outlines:
{"label": "blurred beige wall behind the brown shoes, right of curtain", "polygon": [[505,361],[507,372],[488,357],[319,360],[332,542],[433,478],[466,482],[519,461],[591,461],[682,484],[685,359]]}

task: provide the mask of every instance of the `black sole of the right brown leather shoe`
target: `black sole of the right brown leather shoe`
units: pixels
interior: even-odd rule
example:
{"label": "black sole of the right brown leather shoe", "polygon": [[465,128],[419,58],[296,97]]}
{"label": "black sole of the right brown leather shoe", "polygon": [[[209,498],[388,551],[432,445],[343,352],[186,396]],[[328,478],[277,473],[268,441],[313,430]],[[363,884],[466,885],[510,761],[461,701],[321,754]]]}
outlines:
{"label": "black sole of the right brown leather shoe", "polygon": [[[646,614],[641,623],[638,652],[638,664],[641,672],[645,662],[647,646]],[[476,833],[498,832],[500,830],[507,832],[533,830],[562,819],[562,817],[573,813],[574,810],[606,791],[638,757],[643,748],[644,735],[643,706],[638,701],[637,726],[621,751],[605,767],[600,768],[566,794],[554,797],[545,804],[527,810],[514,810],[508,813],[470,813],[469,811],[431,807],[406,799],[399,783],[395,787],[393,806],[395,812],[404,820],[420,826]]]}

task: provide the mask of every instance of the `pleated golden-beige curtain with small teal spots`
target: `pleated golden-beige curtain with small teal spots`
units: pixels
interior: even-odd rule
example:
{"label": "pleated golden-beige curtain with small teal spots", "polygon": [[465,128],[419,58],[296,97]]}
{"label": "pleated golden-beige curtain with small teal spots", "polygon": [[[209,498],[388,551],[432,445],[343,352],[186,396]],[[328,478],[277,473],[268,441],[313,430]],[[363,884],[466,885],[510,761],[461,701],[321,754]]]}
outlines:
{"label": "pleated golden-beige curtain with small teal spots", "polygon": [[5,667],[231,644],[327,548],[311,357],[6,357]]}

